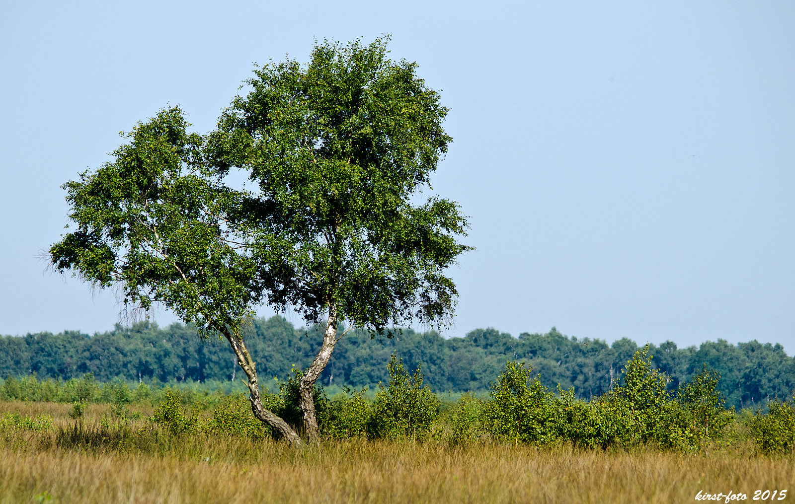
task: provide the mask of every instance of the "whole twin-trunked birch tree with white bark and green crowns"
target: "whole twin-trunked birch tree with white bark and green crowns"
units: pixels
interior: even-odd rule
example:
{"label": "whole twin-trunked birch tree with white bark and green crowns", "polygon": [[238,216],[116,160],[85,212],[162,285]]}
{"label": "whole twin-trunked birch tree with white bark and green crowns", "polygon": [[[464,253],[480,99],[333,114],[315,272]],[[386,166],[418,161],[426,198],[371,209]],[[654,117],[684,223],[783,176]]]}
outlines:
{"label": "whole twin-trunked birch tree with white bark and green crowns", "polygon": [[[294,444],[262,407],[241,326],[263,303],[325,322],[300,383],[303,427],[318,440],[312,388],[341,322],[372,334],[444,324],[456,303],[444,271],[470,248],[456,241],[466,219],[450,200],[413,204],[452,141],[448,109],[416,68],[387,59],[386,40],[325,41],[307,65],[257,68],[207,136],[163,110],[115,161],[64,185],[77,230],[52,246],[52,264],[226,337],[254,415]],[[223,184],[231,169],[255,188]]]}

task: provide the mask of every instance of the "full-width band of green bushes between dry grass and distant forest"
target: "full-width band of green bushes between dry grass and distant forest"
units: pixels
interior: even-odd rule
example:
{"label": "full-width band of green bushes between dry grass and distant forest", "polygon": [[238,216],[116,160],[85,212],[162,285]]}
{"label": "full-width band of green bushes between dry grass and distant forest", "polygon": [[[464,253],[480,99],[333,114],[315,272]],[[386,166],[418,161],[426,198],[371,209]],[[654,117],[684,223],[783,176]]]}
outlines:
{"label": "full-width band of green bushes between dry grass and distant forest", "polygon": [[[409,374],[393,354],[387,370],[389,383],[379,383],[374,400],[368,400],[366,389],[347,387],[330,399],[322,386],[316,386],[313,397],[320,432],[338,440],[367,436],[445,440],[450,444],[483,441],[603,449],[650,446],[689,452],[731,442],[751,450],[758,447],[765,453],[795,455],[795,398],[771,401],[764,410],[736,415],[733,409],[724,407],[724,398],[717,389],[719,375],[706,366],[679,386],[674,396],[669,378],[654,369],[648,347],[626,362],[617,386],[591,401],[578,399],[573,389],[547,389],[525,362],[506,362],[487,400],[463,394],[457,402],[449,398],[442,411],[440,399],[424,385],[421,366]],[[301,377],[301,370],[293,369],[293,375],[281,382],[278,394],[267,390],[262,394],[263,405],[299,432]],[[141,413],[131,410],[140,409],[141,405],[148,407],[147,403],[155,408],[145,428],[174,439],[187,435],[231,436],[243,442],[274,436],[273,430],[251,413],[246,395],[230,395],[223,390],[211,393],[206,385],[202,389],[138,383],[131,388],[120,380],[98,384],[93,375],[86,374],[67,382],[37,382],[33,376],[8,378],[0,390],[3,397],[16,401],[69,399],[72,408],[68,416],[81,426],[64,434],[64,439],[88,436],[85,429],[91,428],[95,429],[91,436],[99,436],[96,429],[110,428],[111,421],[121,428],[140,418]],[[104,413],[107,409],[91,406],[92,411],[103,412],[99,427],[95,425],[98,414],[83,419],[86,405],[91,402],[111,405],[108,413]],[[22,409],[38,413],[31,407],[25,405]],[[64,409],[60,411],[63,413]],[[93,424],[91,417],[95,419]],[[6,416],[2,426],[46,429],[48,421],[52,423],[52,418]]]}

